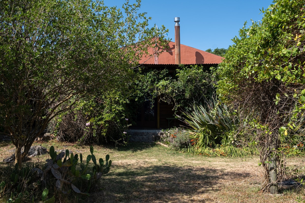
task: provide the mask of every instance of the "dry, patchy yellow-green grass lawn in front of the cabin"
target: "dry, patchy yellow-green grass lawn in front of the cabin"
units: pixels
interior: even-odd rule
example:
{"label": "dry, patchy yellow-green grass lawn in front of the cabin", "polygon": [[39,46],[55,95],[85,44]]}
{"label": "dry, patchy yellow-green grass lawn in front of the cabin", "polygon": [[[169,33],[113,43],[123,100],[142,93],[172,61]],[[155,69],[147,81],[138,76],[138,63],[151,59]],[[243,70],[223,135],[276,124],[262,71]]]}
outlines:
{"label": "dry, patchy yellow-green grass lawn in front of the cabin", "polygon": [[[36,142],[49,149],[70,149],[87,156],[89,146],[56,141]],[[1,160],[12,153],[13,146],[1,143]],[[161,145],[138,143],[127,147],[94,146],[96,158],[110,155],[110,172],[101,179],[103,190],[93,191],[84,202],[297,202],[304,199],[303,189],[284,190],[272,196],[258,192],[263,180],[257,156],[245,158],[205,157],[178,153]],[[31,161],[46,159],[47,156]],[[291,158],[288,163],[301,163]],[[71,200],[75,201],[75,200]]]}

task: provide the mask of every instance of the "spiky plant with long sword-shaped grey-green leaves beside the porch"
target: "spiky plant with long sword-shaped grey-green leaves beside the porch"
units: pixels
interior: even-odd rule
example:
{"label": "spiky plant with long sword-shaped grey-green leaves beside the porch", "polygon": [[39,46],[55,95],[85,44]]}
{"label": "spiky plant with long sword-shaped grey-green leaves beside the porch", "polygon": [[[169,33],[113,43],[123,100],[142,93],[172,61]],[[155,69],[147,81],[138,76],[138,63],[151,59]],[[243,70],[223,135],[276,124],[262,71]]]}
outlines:
{"label": "spiky plant with long sword-shaped grey-green leaves beside the porch", "polygon": [[184,112],[180,119],[188,124],[192,131],[192,145],[197,149],[221,144],[224,132],[234,129],[239,123],[239,119],[236,116],[232,118],[228,107],[217,100],[217,97],[211,97],[204,105],[194,105],[192,112]]}

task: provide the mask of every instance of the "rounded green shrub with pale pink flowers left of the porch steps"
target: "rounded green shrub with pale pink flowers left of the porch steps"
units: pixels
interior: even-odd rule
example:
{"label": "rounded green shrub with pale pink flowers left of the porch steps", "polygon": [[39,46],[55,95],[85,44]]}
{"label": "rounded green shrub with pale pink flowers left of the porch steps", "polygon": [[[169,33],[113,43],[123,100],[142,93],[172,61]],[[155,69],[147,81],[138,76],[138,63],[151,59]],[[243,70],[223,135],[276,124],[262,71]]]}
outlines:
{"label": "rounded green shrub with pale pink flowers left of the porch steps", "polygon": [[128,141],[124,132],[133,113],[127,107],[128,92],[98,93],[80,100],[73,110],[56,117],[49,130],[62,141],[124,145]]}

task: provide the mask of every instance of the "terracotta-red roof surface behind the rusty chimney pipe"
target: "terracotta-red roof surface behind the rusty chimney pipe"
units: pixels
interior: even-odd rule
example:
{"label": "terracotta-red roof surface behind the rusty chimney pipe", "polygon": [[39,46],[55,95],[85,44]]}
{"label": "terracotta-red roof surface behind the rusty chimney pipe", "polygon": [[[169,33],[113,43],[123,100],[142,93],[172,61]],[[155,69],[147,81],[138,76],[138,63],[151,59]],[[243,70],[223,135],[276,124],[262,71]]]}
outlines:
{"label": "terracotta-red roof surface behind the rusty chimney pipe", "polygon": [[[168,43],[169,49],[161,50],[162,52],[157,55],[152,55],[154,49],[149,49],[149,56],[143,56],[139,61],[140,64],[160,64],[160,65],[170,65],[175,64],[175,43]],[[190,65],[190,64],[219,64],[224,59],[221,56],[211,54],[206,51],[195,49],[186,45],[180,45],[180,54],[181,54],[181,64]]]}

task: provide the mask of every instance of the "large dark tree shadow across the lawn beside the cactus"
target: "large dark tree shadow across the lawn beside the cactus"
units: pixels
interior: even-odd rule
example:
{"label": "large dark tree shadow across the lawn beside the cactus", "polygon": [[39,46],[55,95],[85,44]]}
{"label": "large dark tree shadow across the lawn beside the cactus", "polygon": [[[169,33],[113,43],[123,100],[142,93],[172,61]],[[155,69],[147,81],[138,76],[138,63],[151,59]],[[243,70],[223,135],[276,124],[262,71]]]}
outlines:
{"label": "large dark tree shadow across the lawn beside the cactus", "polygon": [[92,195],[100,197],[96,202],[211,202],[204,194],[219,191],[218,181],[226,178],[219,175],[221,171],[205,167],[115,167],[115,172],[103,177],[103,194]]}

